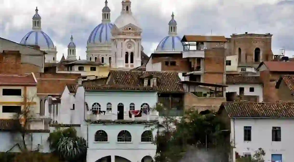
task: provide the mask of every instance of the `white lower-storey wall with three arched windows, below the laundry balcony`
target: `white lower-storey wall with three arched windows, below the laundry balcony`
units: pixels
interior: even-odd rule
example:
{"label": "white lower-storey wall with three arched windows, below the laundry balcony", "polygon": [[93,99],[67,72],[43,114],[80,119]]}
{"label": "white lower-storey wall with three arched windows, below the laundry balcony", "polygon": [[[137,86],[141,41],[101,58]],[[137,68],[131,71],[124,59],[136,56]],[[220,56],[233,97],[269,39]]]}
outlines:
{"label": "white lower-storey wall with three arched windows, below the laundry balcony", "polygon": [[[146,128],[146,125],[141,124],[89,125],[87,162],[95,162],[105,156],[120,156],[131,162],[140,162],[144,156],[151,156],[153,158],[156,153],[156,145],[152,142],[141,142],[141,134],[151,128],[153,127]],[[107,142],[94,141],[95,133],[98,130],[104,130],[107,133]],[[117,142],[117,135],[121,130],[128,130],[131,133],[131,142]],[[153,138],[156,132],[157,130],[153,130]]]}

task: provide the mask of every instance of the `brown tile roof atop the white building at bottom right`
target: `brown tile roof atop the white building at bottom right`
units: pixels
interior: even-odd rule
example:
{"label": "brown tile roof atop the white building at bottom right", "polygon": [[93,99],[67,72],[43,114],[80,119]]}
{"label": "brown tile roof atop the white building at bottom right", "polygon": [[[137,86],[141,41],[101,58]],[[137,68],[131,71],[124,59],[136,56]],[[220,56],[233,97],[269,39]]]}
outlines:
{"label": "brown tile roof atop the white building at bottom right", "polygon": [[294,118],[294,103],[224,102],[230,118]]}

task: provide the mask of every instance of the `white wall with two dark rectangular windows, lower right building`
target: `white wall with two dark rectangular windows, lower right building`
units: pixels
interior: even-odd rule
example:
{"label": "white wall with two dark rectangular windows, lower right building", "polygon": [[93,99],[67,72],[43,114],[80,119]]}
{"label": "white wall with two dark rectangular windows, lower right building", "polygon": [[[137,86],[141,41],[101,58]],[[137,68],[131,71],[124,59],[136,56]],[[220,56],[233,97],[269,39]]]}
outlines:
{"label": "white wall with two dark rectangular windows, lower right building", "polygon": [[[244,126],[251,126],[251,141],[244,141]],[[272,127],[281,127],[281,141],[272,141]],[[265,151],[265,162],[271,161],[272,154],[282,154],[283,162],[293,161],[294,153],[294,120],[293,119],[231,119],[231,141],[235,151],[254,154],[258,148]],[[234,161],[235,162],[235,161]]]}

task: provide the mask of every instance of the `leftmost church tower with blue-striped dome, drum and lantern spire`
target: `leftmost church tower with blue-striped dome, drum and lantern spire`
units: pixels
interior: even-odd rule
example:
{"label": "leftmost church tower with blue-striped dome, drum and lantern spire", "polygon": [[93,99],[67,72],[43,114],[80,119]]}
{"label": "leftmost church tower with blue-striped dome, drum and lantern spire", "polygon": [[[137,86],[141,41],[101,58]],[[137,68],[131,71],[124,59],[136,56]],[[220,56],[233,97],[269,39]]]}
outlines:
{"label": "leftmost church tower with blue-striped dome, drum and lantern spire", "polygon": [[45,51],[45,62],[56,62],[56,46],[54,46],[50,37],[41,30],[41,16],[38,13],[38,8],[36,7],[36,13],[33,16],[32,21],[32,31],[28,32],[23,39],[21,39],[20,44],[27,46],[39,46],[40,50]]}

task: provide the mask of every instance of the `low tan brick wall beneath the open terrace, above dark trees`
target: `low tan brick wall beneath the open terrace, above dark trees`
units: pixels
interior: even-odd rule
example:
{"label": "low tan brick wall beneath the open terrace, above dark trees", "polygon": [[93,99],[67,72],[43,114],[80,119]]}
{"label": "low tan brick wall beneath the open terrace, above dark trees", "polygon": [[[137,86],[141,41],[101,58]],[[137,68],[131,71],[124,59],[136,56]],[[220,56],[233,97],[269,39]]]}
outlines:
{"label": "low tan brick wall beneath the open terrace, above dark trees", "polygon": [[197,97],[191,92],[186,92],[184,95],[185,110],[194,109],[203,110],[218,110],[221,103],[225,102],[225,97]]}

